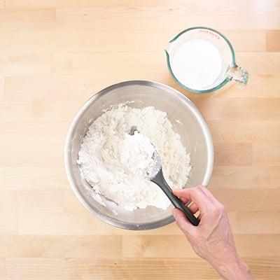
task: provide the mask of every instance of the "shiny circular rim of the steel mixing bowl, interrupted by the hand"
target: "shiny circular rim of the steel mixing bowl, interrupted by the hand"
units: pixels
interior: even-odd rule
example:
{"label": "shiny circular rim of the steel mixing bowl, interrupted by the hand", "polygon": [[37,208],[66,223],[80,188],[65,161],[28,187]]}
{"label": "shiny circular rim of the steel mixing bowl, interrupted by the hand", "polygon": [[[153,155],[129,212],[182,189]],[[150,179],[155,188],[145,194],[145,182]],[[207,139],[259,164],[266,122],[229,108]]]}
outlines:
{"label": "shiny circular rim of the steel mixing bowl, interrupted by the hand", "polygon": [[92,97],[90,97],[90,99],[87,100],[87,102],[85,102],[83,104],[83,106],[78,110],[78,112],[74,116],[74,118],[71,122],[71,125],[69,127],[69,130],[66,134],[66,140],[65,140],[65,145],[64,145],[64,167],[65,167],[65,170],[66,170],[67,179],[70,183],[70,186],[73,190],[73,193],[76,195],[76,197],[78,198],[80,203],[83,204],[83,206],[88,211],[90,211],[90,213],[92,213],[94,216],[99,218],[101,221],[104,221],[105,223],[113,225],[117,228],[123,228],[123,229],[126,229],[126,230],[152,230],[152,229],[160,228],[162,226],[169,225],[170,223],[173,223],[175,221],[175,219],[172,216],[172,214],[170,216],[167,216],[167,218],[162,219],[160,221],[153,222],[153,223],[143,223],[143,224],[126,223],[126,222],[122,222],[122,221],[118,221],[116,219],[110,218],[110,217],[105,216],[104,214],[100,213],[97,209],[94,209],[94,207],[91,207],[87,203],[87,201],[85,200],[83,195],[81,195],[80,192],[78,191],[78,187],[73,182],[72,175],[71,175],[71,167],[70,167],[70,165],[71,165],[71,160],[70,160],[71,151],[69,151],[69,146],[70,146],[70,143],[71,143],[71,137],[72,137],[73,132],[76,128],[78,120],[80,120],[80,118],[83,116],[83,114],[87,111],[87,109],[90,106],[92,106],[92,104],[94,103],[94,101],[96,99],[98,99],[102,95],[106,94],[107,92],[110,92],[113,89],[116,89],[116,88],[119,88],[119,87],[127,87],[127,86],[130,86],[130,85],[158,87],[158,88],[160,88],[162,90],[165,90],[165,91],[167,91],[171,94],[174,94],[174,95],[176,95],[176,97],[179,97],[179,99],[181,99],[181,101],[184,102],[189,107],[189,109],[191,109],[191,111],[193,111],[195,116],[197,116],[197,120],[200,121],[200,125],[201,125],[202,129],[204,130],[204,135],[207,138],[206,142],[207,142],[207,151],[208,151],[209,162],[208,162],[208,165],[207,165],[207,172],[204,176],[204,181],[202,181],[202,185],[207,187],[207,185],[208,185],[208,183],[211,179],[211,174],[212,174],[213,166],[214,166],[214,145],[213,145],[213,140],[211,138],[211,133],[209,131],[209,127],[207,126],[207,123],[204,120],[204,117],[202,116],[202,113],[200,113],[200,111],[197,109],[195,104],[193,104],[193,102],[191,102],[190,99],[188,99],[188,97],[183,95],[178,90],[175,90],[173,87],[169,87],[168,85],[164,85],[162,83],[149,81],[149,80],[129,80],[129,81],[121,82],[121,83],[116,83],[114,85],[110,85],[109,87],[105,87],[103,90],[100,90],[99,92],[94,94]]}

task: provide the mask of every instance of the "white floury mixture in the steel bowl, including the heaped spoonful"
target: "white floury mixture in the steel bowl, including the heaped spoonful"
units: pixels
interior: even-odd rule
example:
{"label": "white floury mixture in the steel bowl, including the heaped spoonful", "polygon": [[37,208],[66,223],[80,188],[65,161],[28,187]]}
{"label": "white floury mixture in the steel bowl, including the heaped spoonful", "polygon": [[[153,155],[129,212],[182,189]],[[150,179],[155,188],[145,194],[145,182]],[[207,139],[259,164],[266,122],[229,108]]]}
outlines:
{"label": "white floury mixture in the steel bowl, including the heaped spoonful", "polygon": [[[131,127],[138,132],[128,134]],[[190,154],[172,130],[167,113],[153,107],[119,105],[90,125],[78,153],[78,165],[92,188],[127,210],[169,207],[160,187],[146,180],[155,150],[171,188],[183,188],[190,173]]]}

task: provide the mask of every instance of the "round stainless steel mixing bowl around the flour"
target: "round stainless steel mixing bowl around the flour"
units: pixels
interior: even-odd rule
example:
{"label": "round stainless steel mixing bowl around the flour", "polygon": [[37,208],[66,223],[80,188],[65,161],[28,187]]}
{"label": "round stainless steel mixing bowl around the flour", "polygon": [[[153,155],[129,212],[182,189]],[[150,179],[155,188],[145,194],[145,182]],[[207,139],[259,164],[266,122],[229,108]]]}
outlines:
{"label": "round stainless steel mixing bowl around the flour", "polygon": [[[66,136],[64,160],[66,174],[73,192],[83,206],[100,220],[127,230],[160,228],[174,221],[172,205],[166,210],[156,207],[126,211],[115,203],[99,196],[83,179],[77,165],[81,141],[92,122],[112,105],[130,102],[130,106],[167,112],[174,130],[181,135],[183,145],[190,152],[193,169],[186,188],[207,186],[214,164],[214,148],[207,123],[197,107],[172,87],[144,80],[132,80],[111,85],[94,94],[73,118]],[[99,203],[101,202],[101,203]]]}

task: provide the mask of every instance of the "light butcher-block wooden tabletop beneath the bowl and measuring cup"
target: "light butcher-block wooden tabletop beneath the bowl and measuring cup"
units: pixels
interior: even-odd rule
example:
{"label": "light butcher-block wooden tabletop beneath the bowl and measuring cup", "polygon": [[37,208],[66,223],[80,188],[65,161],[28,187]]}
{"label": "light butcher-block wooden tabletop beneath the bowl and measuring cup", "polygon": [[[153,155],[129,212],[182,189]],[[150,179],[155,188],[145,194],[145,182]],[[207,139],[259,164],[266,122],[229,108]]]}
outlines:
{"label": "light butcher-block wooden tabletop beneath the bowl and measuring cup", "polygon": [[[193,26],[221,31],[250,73],[183,90],[164,49]],[[64,139],[92,94],[124,80],[186,94],[214,139],[209,189],[228,209],[255,279],[280,279],[280,1],[0,0],[0,279],[220,279],[176,224],[133,232],[85,210]]]}

